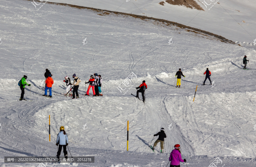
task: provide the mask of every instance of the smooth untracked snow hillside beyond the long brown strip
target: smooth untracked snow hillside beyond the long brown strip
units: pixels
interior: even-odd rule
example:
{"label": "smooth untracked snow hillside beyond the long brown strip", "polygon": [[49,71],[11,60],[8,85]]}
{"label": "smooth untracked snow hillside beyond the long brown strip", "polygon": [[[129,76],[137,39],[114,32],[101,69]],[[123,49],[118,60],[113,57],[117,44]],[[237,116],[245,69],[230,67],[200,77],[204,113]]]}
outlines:
{"label": "smooth untracked snow hillside beyond the long brown strip", "polygon": [[250,0],[49,0],[49,2],[165,19],[218,34],[232,41],[252,43],[256,38],[256,3]]}

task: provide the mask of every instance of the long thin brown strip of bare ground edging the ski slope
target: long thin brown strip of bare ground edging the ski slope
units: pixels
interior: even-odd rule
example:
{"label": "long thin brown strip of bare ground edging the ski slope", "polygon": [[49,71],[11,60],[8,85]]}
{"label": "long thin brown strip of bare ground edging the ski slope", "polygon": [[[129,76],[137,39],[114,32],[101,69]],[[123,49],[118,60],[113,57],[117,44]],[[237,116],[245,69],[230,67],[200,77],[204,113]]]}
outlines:
{"label": "long thin brown strip of bare ground edging the ski slope", "polygon": [[[25,1],[30,1],[30,0],[25,0]],[[129,14],[129,13],[123,13],[123,12],[115,12],[115,11],[108,11],[108,10],[102,10],[102,9],[95,9],[95,8],[83,7],[83,6],[78,6],[78,5],[71,5],[71,4],[66,4],[66,3],[54,3],[54,2],[47,2],[47,3],[55,4],[55,5],[69,6],[69,7],[75,7],[75,8],[78,8],[78,9],[90,9],[92,11],[101,12],[101,13],[104,11],[104,12],[108,12],[108,13],[111,13],[111,14],[117,14],[117,15],[121,14],[121,15],[127,16],[127,17],[128,16],[132,16],[134,18],[140,18],[141,20],[145,20],[145,21],[155,20],[156,24],[162,23],[162,24],[165,24],[166,26],[176,26],[176,27],[183,28],[183,29],[189,29],[189,30],[186,30],[186,31],[193,30],[191,32],[196,32],[196,33],[200,33],[200,34],[206,34],[208,36],[213,36],[217,40],[220,40],[222,42],[235,44],[235,42],[233,42],[233,41],[231,41],[229,39],[226,39],[226,38],[224,38],[222,36],[213,34],[211,32],[200,30],[200,29],[197,29],[197,28],[189,27],[189,26],[185,26],[183,24],[179,24],[179,23],[168,21],[168,20],[164,20],[164,19],[158,19],[158,18],[154,18],[154,17],[141,16],[141,15],[137,15],[137,14]],[[158,21],[158,23],[156,21]],[[178,28],[176,28],[176,30],[177,29]]]}

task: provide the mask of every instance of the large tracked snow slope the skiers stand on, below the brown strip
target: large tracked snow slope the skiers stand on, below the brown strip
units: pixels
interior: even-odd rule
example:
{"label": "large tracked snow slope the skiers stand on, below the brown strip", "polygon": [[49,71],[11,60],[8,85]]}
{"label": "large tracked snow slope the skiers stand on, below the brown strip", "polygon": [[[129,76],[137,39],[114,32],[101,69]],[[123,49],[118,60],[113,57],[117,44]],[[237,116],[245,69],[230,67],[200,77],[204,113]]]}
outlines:
{"label": "large tracked snow slope the skiers stand on, below the brown strip", "polygon": [[[37,10],[31,2],[0,4],[1,166],[38,166],[7,164],[4,156],[55,156],[60,126],[69,135],[71,154],[95,156],[95,163],[54,166],[166,166],[177,143],[188,166],[208,166],[216,157],[225,166],[255,166],[255,45],[104,11],[50,3]],[[249,70],[242,69],[244,55]],[[38,95],[46,68],[54,80],[51,99]],[[179,68],[185,75],[180,89]],[[202,85],[206,68],[214,87],[208,80]],[[64,77],[74,73],[82,80],[80,98],[59,96]],[[84,83],[94,73],[103,78],[104,96],[85,97]],[[135,78],[125,86],[131,74]],[[18,101],[23,75],[31,84],[28,101]],[[145,104],[131,95],[143,80]],[[159,145],[156,153],[148,147],[160,128],[167,135],[164,154]]]}

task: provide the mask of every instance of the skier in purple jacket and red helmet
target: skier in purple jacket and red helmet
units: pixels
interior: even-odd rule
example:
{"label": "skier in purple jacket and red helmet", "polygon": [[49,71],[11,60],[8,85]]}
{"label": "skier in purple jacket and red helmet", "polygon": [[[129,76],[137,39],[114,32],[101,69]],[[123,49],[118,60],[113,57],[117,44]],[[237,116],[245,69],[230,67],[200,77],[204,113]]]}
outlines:
{"label": "skier in purple jacket and red helmet", "polygon": [[180,145],[176,144],[174,150],[170,154],[169,161],[171,161],[170,167],[180,167],[179,162],[187,162],[186,159],[181,159]]}

